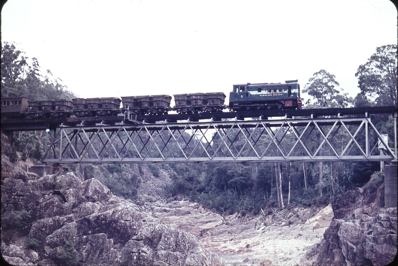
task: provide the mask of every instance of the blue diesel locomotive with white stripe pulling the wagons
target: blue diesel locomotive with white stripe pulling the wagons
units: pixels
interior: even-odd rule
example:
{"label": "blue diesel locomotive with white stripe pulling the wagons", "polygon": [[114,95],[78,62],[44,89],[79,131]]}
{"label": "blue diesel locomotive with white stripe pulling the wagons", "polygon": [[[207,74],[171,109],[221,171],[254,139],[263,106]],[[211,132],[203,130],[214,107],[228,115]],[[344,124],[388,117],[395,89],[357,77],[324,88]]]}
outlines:
{"label": "blue diesel locomotive with white stripe pulling the wagons", "polygon": [[260,109],[301,109],[300,85],[297,80],[285,83],[233,85],[229,108],[232,111]]}

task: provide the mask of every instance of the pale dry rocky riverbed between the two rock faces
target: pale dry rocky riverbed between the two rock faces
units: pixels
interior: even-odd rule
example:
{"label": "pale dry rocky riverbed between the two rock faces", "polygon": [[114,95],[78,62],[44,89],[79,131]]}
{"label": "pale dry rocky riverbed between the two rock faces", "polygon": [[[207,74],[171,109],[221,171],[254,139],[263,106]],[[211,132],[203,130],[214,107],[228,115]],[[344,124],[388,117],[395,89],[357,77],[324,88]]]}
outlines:
{"label": "pale dry rocky riverbed between the two rock faces", "polygon": [[331,205],[256,217],[237,213],[222,217],[184,200],[155,203],[150,209],[162,223],[196,235],[224,265],[296,265],[312,245],[320,243],[333,218]]}

